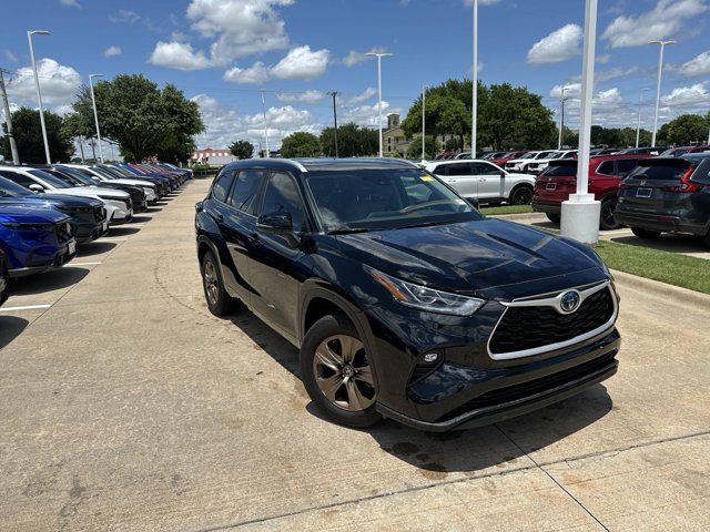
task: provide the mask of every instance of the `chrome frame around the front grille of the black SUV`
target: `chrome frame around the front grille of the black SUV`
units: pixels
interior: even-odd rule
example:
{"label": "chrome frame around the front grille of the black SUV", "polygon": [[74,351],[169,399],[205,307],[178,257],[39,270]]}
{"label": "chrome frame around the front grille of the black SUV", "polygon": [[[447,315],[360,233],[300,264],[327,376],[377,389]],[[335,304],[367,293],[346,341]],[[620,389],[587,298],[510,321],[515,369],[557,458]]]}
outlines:
{"label": "chrome frame around the front grille of the black SUV", "polygon": [[[587,285],[588,286],[588,285]],[[570,347],[574,346],[575,344],[578,344],[580,341],[585,341],[588,340],[590,338],[594,338],[597,335],[600,335],[607,330],[609,330],[611,327],[613,327],[613,324],[616,323],[618,316],[619,316],[619,305],[618,305],[618,300],[617,300],[617,295],[616,291],[613,290],[613,285],[611,284],[611,280],[606,280],[601,284],[598,285],[594,285],[589,288],[585,288],[585,287],[580,287],[582,289],[579,288],[569,288],[566,290],[560,290],[556,296],[554,297],[539,297],[539,296],[532,296],[532,298],[521,298],[521,299],[514,299],[513,301],[509,303],[500,303],[500,305],[503,305],[505,307],[504,313],[500,315],[500,318],[498,318],[498,321],[496,323],[496,326],[493,328],[493,331],[490,332],[490,336],[488,337],[488,342],[486,344],[486,348],[488,350],[488,356],[493,359],[493,360],[513,360],[516,358],[525,358],[525,357],[531,357],[535,355],[542,355],[545,352],[549,352],[549,351],[555,351],[557,349],[564,349],[566,347]],[[493,339],[493,337],[496,334],[496,330],[498,329],[498,326],[500,325],[500,321],[503,320],[504,316],[506,315],[506,313],[508,311],[508,308],[510,307],[552,307],[555,308],[557,311],[559,311],[560,314],[569,314],[569,313],[564,313],[560,311],[561,309],[559,309],[559,300],[561,298],[562,294],[566,294],[567,291],[570,290],[576,290],[579,293],[579,295],[581,296],[581,303],[579,304],[581,306],[581,304],[585,301],[585,299],[587,299],[589,296],[602,290],[602,289],[608,289],[610,295],[611,295],[611,303],[613,305],[613,310],[611,313],[611,318],[609,318],[609,320],[592,329],[589,330],[582,335],[576,336],[575,338],[570,338],[569,340],[565,340],[565,341],[558,341],[555,344],[548,344],[545,346],[540,346],[540,347],[534,347],[531,349],[523,349],[520,351],[509,351],[509,352],[497,352],[494,354],[490,350],[490,340]],[[547,295],[547,294],[546,294]],[[578,307],[579,308],[579,307]]]}

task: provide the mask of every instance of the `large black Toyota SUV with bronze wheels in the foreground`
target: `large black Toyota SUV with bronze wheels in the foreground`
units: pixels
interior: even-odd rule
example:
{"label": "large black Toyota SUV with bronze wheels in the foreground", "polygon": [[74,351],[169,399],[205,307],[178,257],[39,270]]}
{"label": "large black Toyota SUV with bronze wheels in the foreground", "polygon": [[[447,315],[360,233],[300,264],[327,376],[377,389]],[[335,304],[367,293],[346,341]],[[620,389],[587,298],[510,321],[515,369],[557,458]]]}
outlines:
{"label": "large black Toyota SUV with bronze wheels in the foreground", "polygon": [[331,419],[490,423],[617,370],[618,298],[591,248],[480,215],[394,160],[247,160],[196,204],[210,310],[235,299],[301,349]]}

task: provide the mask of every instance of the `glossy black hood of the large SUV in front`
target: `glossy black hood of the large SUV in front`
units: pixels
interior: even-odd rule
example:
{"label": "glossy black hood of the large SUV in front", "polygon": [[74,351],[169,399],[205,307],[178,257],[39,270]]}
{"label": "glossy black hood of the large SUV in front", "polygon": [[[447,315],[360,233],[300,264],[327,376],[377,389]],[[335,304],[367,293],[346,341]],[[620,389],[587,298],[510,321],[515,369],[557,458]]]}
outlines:
{"label": "glossy black hood of the large SUV in front", "polygon": [[[591,248],[500,219],[341,235],[337,241],[342,253],[376,269],[459,294],[483,295],[496,287],[564,279],[581,270],[592,270],[594,278],[577,275],[578,285],[582,277],[585,283],[606,277]],[[567,279],[561,283],[576,286]],[[532,294],[540,293],[535,289]],[[504,298],[520,297],[517,289],[493,293]]]}

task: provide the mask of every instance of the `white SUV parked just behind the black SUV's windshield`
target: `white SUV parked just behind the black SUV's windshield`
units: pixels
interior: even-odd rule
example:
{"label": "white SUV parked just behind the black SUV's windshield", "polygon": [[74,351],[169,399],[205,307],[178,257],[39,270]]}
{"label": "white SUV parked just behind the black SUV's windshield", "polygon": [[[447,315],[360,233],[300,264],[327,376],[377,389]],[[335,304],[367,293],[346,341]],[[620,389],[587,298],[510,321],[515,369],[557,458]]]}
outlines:
{"label": "white SUV parked just behind the black SUV's windshield", "polygon": [[514,174],[488,161],[434,161],[424,167],[478,203],[527,205],[532,201],[534,175]]}

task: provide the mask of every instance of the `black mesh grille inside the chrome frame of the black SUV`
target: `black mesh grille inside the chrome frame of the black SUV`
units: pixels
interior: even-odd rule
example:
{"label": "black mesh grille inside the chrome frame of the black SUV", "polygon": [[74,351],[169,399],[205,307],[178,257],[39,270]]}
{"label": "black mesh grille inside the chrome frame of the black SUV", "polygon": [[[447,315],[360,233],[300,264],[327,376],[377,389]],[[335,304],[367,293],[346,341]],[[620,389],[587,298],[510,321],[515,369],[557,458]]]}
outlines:
{"label": "black mesh grille inside the chrome frame of the black SUV", "polygon": [[490,352],[524,351],[571,340],[609,321],[613,307],[608,288],[589,296],[572,314],[541,306],[509,307],[490,339]]}

